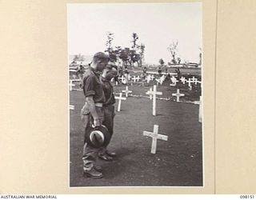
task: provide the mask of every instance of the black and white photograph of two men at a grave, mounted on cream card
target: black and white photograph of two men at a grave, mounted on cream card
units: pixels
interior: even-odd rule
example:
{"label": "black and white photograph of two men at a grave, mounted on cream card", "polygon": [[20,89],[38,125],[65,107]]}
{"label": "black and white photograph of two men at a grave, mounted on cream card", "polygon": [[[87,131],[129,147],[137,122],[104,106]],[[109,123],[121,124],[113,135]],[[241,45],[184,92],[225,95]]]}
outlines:
{"label": "black and white photograph of two men at a grave, mounted on cream card", "polygon": [[204,186],[202,3],[68,3],[69,186]]}

